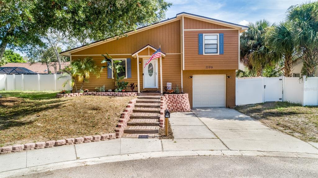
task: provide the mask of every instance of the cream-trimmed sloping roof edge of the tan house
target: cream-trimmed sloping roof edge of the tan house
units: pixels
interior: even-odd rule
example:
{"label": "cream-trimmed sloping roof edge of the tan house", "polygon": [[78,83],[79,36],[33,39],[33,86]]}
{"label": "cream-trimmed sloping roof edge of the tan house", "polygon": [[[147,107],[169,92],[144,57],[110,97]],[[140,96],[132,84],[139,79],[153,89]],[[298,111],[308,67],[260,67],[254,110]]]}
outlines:
{"label": "cream-trimmed sloping roof edge of the tan house", "polygon": [[[225,22],[225,21],[218,20],[218,19],[213,19],[213,18],[209,18],[209,17],[204,17],[204,16],[195,15],[195,14],[190,14],[190,13],[187,13],[187,12],[181,12],[181,13],[176,14],[176,16],[173,17],[173,18],[166,19],[166,20],[163,20],[163,21],[160,21],[160,22],[156,22],[156,23],[153,23],[151,25],[138,28],[136,30],[128,31],[128,32],[124,33],[124,36],[125,35],[132,35],[132,34],[138,33],[140,31],[143,31],[143,30],[146,30],[146,29],[154,28],[156,26],[163,25],[165,23],[176,21],[176,20],[182,19],[182,17],[197,18],[197,19],[208,21],[208,22],[211,22],[211,23],[221,24],[221,25],[224,25],[224,26],[227,26],[227,27],[238,29],[238,30],[240,30],[240,32],[243,32],[243,31],[248,29],[248,27],[244,26],[244,25],[239,25],[239,24],[231,23],[231,22]],[[82,50],[84,48],[93,47],[95,45],[99,45],[99,44],[102,44],[102,43],[106,43],[106,42],[112,41],[114,39],[117,39],[119,37],[120,36],[113,36],[113,37],[110,37],[110,38],[107,38],[107,39],[95,41],[95,42],[89,43],[87,45],[79,46],[77,48],[73,48],[73,49],[70,49],[70,50],[66,50],[66,51],[60,52],[59,54],[64,55],[64,56],[70,56],[70,54],[72,52],[79,51],[79,50]]]}

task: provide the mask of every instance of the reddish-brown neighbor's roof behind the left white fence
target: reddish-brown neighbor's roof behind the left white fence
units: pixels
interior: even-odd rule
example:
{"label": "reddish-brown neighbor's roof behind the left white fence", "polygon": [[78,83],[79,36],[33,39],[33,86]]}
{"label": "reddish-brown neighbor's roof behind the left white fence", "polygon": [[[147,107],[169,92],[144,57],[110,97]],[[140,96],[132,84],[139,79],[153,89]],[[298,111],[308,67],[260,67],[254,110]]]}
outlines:
{"label": "reddish-brown neighbor's roof behind the left white fence", "polygon": [[[50,64],[50,71],[51,71],[52,73],[56,73],[56,72],[59,71],[59,64],[56,63],[56,70],[57,70],[56,72],[55,72],[55,69],[54,69],[54,67],[53,67],[54,64],[55,64],[54,62],[52,62],[52,63]],[[64,63],[62,64],[62,66],[61,66],[62,69],[64,69],[65,66],[67,66],[67,65],[70,65],[70,62],[64,62]],[[33,71],[33,72],[38,73],[38,74],[47,74],[46,64],[42,64],[42,63],[40,63],[40,62],[37,62],[37,63],[34,63],[34,64],[31,64],[30,62],[7,63],[7,64],[5,64],[5,65],[3,65],[3,66],[1,66],[1,67],[24,67],[24,68],[27,68],[27,69],[29,69],[30,71]]]}

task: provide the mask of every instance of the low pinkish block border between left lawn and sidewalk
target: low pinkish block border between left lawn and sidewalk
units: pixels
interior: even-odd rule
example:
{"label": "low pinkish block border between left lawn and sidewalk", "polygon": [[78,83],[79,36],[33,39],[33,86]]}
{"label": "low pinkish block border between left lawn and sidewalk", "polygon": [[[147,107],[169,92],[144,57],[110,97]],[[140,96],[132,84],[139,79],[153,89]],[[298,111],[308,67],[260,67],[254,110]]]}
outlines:
{"label": "low pinkish block border between left lawn and sidewalk", "polygon": [[115,133],[108,133],[108,134],[86,136],[86,137],[66,138],[66,139],[56,140],[56,141],[50,140],[47,142],[25,143],[24,145],[18,144],[18,145],[13,145],[13,146],[1,147],[0,154],[19,152],[19,151],[23,151],[23,150],[52,148],[52,147],[62,146],[62,145],[98,142],[100,140],[111,140],[111,139],[115,139],[115,138],[116,138]]}

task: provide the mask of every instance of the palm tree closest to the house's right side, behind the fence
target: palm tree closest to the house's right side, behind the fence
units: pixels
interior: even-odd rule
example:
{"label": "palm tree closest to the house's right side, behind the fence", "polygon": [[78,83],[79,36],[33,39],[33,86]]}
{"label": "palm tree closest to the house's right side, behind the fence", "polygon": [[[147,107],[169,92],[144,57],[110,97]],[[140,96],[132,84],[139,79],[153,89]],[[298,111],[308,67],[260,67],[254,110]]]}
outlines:
{"label": "palm tree closest to the house's right side, behind the fence", "polygon": [[266,28],[270,27],[270,22],[265,19],[255,23],[250,22],[248,27],[240,37],[240,62],[249,70],[257,70],[257,75],[260,76],[266,64],[270,63],[269,50],[265,46],[263,35]]}

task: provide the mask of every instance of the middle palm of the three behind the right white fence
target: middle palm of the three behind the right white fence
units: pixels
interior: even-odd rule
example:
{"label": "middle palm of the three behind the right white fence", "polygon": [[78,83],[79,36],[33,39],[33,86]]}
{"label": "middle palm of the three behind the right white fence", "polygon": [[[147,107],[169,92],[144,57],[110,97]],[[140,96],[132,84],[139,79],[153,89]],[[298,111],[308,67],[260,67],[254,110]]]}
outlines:
{"label": "middle palm of the three behind the right white fence", "polygon": [[292,77],[292,65],[299,58],[294,45],[292,23],[280,22],[277,26],[267,28],[264,36],[271,60],[275,63],[283,63],[281,70],[284,76]]}

